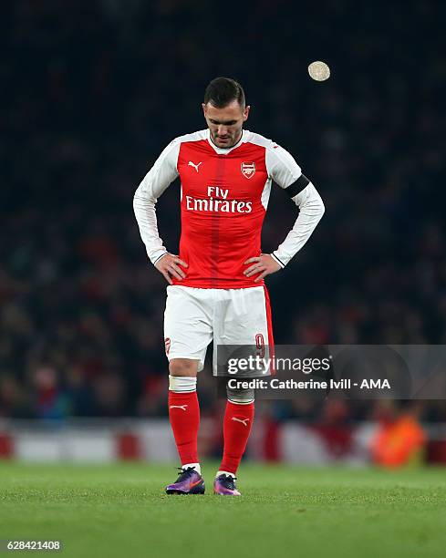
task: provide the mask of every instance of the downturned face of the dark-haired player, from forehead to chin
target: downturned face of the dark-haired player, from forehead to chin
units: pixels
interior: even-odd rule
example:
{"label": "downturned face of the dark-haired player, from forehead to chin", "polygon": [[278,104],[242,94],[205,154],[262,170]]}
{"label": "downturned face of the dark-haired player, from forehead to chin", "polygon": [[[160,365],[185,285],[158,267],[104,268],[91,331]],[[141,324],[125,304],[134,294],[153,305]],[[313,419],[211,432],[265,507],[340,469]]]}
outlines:
{"label": "downturned face of the dark-haired player, from forehead to chin", "polygon": [[217,109],[211,103],[202,103],[204,118],[211,131],[213,143],[220,148],[233,147],[240,140],[244,122],[248,119],[250,107],[241,107],[236,100]]}

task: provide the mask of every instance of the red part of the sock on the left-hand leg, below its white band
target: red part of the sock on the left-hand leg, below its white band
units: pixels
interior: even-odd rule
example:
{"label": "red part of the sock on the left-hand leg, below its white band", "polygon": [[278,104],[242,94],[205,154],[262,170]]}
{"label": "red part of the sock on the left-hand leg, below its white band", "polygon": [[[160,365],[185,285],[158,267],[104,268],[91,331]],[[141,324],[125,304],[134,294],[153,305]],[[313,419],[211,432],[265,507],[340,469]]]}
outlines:
{"label": "red part of the sock on the left-hand leg, below its white band", "polygon": [[169,418],[182,465],[198,463],[200,406],[197,392],[169,391]]}

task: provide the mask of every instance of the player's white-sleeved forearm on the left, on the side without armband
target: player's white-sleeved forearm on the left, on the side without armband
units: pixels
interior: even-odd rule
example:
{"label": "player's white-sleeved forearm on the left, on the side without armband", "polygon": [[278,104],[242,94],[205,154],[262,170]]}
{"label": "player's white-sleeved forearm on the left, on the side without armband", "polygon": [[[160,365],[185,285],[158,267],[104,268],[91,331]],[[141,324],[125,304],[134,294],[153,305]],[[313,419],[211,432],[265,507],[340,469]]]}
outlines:
{"label": "player's white-sleeved forearm on the left, on the side without armband", "polygon": [[144,196],[140,188],[135,192],[133,210],[140,227],[142,242],[145,244],[147,255],[153,264],[167,253],[158,233],[155,203],[156,200]]}

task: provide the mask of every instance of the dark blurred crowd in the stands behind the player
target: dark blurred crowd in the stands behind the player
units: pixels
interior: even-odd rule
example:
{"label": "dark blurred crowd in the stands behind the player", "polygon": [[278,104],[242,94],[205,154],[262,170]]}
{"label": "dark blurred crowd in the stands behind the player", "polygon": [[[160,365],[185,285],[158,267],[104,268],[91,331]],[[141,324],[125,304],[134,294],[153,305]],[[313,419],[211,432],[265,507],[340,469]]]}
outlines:
{"label": "dark blurred crowd in the stands behind the player", "polygon": [[[445,16],[440,2],[2,6],[0,416],[166,415],[166,285],[132,198],[172,138],[204,128],[217,76],[241,81],[246,128],[293,153],[326,203],[303,251],[268,277],[276,342],[446,344]],[[327,82],[308,77],[314,60]],[[178,182],[157,211],[174,253]],[[276,188],[264,252],[295,219]],[[216,413],[210,360],[199,386],[202,412]],[[267,408],[328,421],[378,411]],[[446,420],[443,401],[417,412]]]}

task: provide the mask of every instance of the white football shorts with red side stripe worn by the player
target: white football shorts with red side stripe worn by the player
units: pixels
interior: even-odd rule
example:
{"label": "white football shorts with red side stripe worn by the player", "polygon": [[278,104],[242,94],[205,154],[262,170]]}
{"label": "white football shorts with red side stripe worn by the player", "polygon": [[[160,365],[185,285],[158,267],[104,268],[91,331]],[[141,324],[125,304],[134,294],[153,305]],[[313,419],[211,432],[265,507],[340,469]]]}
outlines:
{"label": "white football shorts with red side stripe worn by the player", "polygon": [[164,312],[164,342],[169,361],[192,358],[199,361],[200,371],[211,341],[214,375],[218,345],[274,346],[266,287],[199,289],[169,285]]}

